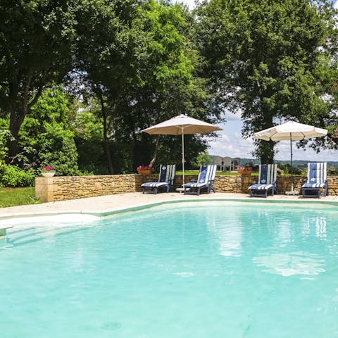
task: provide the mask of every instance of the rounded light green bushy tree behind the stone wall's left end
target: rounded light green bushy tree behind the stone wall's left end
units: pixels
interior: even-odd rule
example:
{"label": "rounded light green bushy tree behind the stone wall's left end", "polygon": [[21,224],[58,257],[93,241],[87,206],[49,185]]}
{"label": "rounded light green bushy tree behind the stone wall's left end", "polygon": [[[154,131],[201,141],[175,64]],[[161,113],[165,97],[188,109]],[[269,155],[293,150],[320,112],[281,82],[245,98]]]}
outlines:
{"label": "rounded light green bushy tree behind the stone wall's left end", "polygon": [[25,168],[52,165],[57,175],[77,175],[75,133],[70,125],[74,114],[62,87],[46,89],[25,117],[20,131],[19,158]]}

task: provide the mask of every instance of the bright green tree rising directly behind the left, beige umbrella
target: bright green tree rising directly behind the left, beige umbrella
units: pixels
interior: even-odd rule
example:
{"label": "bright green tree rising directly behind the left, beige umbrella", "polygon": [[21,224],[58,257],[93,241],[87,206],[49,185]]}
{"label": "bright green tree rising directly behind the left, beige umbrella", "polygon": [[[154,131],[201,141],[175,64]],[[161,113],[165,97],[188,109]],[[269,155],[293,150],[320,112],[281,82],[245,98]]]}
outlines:
{"label": "bright green tree rising directly behind the left, beige umbrella", "polygon": [[[181,6],[145,1],[142,48],[138,69],[141,82],[130,82],[116,105],[115,137],[134,144],[134,166],[140,163],[180,163],[180,138],[139,133],[146,127],[187,113],[215,122],[206,81],[199,77],[201,59],[190,36],[191,17]],[[189,33],[188,33],[189,32]],[[189,136],[189,158],[206,149],[199,135]],[[187,163],[189,165],[189,163]]]}

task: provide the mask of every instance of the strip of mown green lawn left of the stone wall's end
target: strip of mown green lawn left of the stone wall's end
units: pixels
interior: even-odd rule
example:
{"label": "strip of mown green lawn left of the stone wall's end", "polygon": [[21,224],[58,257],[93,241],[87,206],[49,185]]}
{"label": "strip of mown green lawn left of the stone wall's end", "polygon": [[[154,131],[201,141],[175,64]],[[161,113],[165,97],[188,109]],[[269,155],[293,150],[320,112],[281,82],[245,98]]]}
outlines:
{"label": "strip of mown green lawn left of the stone wall's end", "polygon": [[41,203],[35,199],[35,187],[28,188],[1,188],[0,208],[7,206],[24,206],[26,204]]}

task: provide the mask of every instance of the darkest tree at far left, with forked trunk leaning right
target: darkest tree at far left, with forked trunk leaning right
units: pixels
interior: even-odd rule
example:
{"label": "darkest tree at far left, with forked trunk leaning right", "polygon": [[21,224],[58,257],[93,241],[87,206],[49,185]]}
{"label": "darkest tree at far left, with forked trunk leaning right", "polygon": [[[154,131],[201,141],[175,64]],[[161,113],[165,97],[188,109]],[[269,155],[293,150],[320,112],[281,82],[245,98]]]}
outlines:
{"label": "darkest tree at far left, with forked trunk leaning right", "polygon": [[70,70],[75,1],[0,2],[0,106],[10,115],[9,158],[26,115],[49,82]]}

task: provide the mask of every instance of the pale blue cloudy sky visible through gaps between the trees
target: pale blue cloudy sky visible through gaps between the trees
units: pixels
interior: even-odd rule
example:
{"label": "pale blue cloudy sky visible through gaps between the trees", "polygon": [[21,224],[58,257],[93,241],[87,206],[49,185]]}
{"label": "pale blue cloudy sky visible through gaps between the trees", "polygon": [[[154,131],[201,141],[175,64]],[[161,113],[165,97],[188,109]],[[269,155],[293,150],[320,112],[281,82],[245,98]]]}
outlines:
{"label": "pale blue cloudy sky visible through gaps between the trees", "polygon": [[[186,4],[190,9],[194,8],[194,0],[179,0],[177,2]],[[338,4],[338,1],[337,1]],[[227,112],[225,113],[226,123],[219,125],[223,131],[218,132],[219,137],[208,138],[209,154],[218,156],[230,156],[240,158],[251,158],[253,151],[253,139],[243,139],[242,121],[240,115]],[[289,142],[279,142],[277,144],[277,160],[290,159]],[[293,146],[294,160],[304,161],[338,161],[338,151],[323,150],[316,154],[310,148],[296,148],[296,142]]]}

